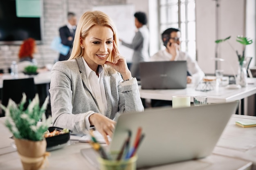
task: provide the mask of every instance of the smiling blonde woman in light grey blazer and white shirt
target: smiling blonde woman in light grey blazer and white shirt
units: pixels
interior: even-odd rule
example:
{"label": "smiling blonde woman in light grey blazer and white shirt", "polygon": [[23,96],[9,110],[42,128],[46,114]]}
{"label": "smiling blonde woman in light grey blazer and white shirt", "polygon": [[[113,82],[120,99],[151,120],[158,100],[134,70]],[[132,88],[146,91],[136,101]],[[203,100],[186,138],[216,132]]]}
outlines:
{"label": "smiling blonde woman in light grey blazer and white shirt", "polygon": [[53,125],[86,134],[94,126],[106,143],[117,112],[143,111],[137,79],[119,54],[112,20],[85,12],[77,25],[71,56],[54,64],[50,84]]}

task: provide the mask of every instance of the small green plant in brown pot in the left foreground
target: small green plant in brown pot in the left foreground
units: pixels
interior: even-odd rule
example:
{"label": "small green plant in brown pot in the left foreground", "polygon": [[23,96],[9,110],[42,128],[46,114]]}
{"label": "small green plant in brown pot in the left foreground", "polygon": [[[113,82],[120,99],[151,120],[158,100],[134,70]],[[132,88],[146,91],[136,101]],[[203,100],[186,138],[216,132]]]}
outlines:
{"label": "small green plant in brown pot in the left foreground", "polygon": [[6,113],[5,125],[13,134],[24,170],[38,170],[49,154],[46,152],[47,144],[43,136],[52,123],[51,117],[46,119],[45,116],[48,99],[49,96],[40,108],[39,97],[36,94],[27,109],[24,109],[26,95],[23,93],[20,104],[16,104],[11,99],[7,107],[0,104]]}

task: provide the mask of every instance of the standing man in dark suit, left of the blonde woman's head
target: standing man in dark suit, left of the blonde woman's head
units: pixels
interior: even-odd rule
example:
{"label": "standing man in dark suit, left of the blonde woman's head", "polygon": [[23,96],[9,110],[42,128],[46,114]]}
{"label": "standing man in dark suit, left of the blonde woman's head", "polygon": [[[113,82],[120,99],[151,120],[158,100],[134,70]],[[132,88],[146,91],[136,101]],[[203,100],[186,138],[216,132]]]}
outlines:
{"label": "standing man in dark suit, left of the blonde woman's head", "polygon": [[67,13],[67,25],[62,26],[59,29],[61,36],[61,44],[70,47],[70,51],[67,55],[63,55],[60,53],[59,61],[67,60],[70,57],[72,44],[74,40],[74,33],[76,32],[76,14],[72,12]]}

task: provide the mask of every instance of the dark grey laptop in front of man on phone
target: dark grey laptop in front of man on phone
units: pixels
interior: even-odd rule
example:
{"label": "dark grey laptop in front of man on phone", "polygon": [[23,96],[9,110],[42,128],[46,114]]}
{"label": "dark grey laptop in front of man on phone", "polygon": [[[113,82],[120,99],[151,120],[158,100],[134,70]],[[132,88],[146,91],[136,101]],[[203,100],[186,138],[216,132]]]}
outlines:
{"label": "dark grey laptop in front of man on phone", "polygon": [[142,89],[186,88],[186,61],[140,62]]}

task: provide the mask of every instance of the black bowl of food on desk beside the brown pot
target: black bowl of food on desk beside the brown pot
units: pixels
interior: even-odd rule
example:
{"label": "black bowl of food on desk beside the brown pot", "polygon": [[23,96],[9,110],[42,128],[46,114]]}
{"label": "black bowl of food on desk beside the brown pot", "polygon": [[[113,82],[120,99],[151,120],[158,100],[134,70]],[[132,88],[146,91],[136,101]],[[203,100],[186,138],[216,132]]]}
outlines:
{"label": "black bowl of food on desk beside the brown pot", "polygon": [[[49,130],[49,132],[52,132],[54,130],[63,130],[63,128],[58,128],[58,127],[52,126],[52,127],[49,127],[48,130]],[[65,144],[65,143],[67,143],[67,141],[70,140],[70,132],[60,134],[60,135],[56,135],[56,136],[53,136],[53,137],[46,137],[45,140],[47,142],[47,146],[46,146],[47,148],[52,147],[52,146]]]}

